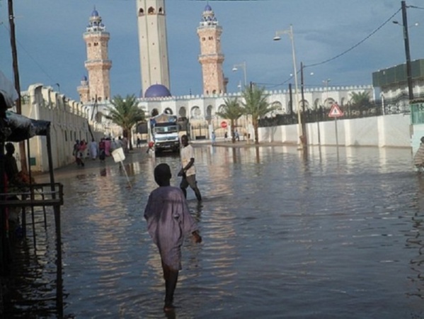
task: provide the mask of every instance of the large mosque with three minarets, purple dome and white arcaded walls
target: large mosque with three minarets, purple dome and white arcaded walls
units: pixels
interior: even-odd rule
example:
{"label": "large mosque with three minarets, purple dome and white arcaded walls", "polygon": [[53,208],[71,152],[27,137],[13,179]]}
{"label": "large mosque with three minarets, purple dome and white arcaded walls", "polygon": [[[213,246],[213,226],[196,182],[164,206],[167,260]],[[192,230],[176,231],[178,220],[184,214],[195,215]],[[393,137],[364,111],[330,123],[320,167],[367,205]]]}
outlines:
{"label": "large mosque with three minarets, purple dome and white arcaded walls", "polygon": [[[225,99],[241,96],[241,93],[227,92],[228,79],[222,67],[225,57],[222,52],[221,36],[224,30],[219,25],[217,16],[212,7],[207,4],[197,27],[202,94],[173,96],[169,77],[166,13],[164,0],[137,0],[139,64],[142,80],[139,107],[146,112],[147,116],[156,113],[178,115],[178,118],[190,122],[190,127],[194,129],[192,132],[194,137],[209,138],[212,130],[217,132],[217,136],[224,135],[224,130],[231,132],[232,128],[221,128],[220,123],[225,119],[219,118],[216,113]],[[84,33],[87,49],[85,67],[88,71],[88,79],[84,77],[81,80],[78,92],[81,102],[94,105],[92,112],[98,116],[98,113],[105,111],[105,106],[110,99],[109,70],[112,67],[112,62],[108,60],[110,33],[105,30],[96,9],[91,13],[89,21]],[[396,90],[394,92],[399,93],[399,87]],[[266,93],[268,102],[277,106],[277,111],[269,115],[272,117],[276,114],[289,113],[291,106],[292,111],[297,112],[302,103],[306,109],[313,109],[316,106],[331,108],[333,103],[343,106],[344,103],[348,103],[353,92],[368,92],[373,100],[379,100],[380,96],[375,91],[371,85],[305,89],[303,100],[294,99],[295,103],[292,102],[295,92],[290,89],[266,91]],[[386,92],[386,96],[390,94],[392,94],[391,91]],[[237,128],[241,135],[248,135],[253,129],[247,118],[240,118]]]}

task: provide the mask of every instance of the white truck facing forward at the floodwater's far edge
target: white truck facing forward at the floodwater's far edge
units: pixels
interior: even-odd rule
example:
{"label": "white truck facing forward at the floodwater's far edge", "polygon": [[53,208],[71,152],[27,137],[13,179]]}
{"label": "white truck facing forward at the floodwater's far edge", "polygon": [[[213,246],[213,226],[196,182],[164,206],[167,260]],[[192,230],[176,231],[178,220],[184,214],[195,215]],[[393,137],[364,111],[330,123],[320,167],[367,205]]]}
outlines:
{"label": "white truck facing forward at the floodwater's far edge", "polygon": [[149,138],[154,142],[154,152],[171,150],[179,152],[178,117],[171,114],[159,114],[149,120]]}

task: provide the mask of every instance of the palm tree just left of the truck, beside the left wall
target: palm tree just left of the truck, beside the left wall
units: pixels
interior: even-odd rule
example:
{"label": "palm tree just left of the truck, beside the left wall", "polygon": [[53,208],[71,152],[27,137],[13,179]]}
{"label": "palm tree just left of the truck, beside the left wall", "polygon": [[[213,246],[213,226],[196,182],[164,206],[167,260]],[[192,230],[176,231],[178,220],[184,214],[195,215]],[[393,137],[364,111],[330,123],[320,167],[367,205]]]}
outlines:
{"label": "palm tree just left of the truck, beside the left wall", "polygon": [[132,150],[131,128],[144,121],[144,111],[138,107],[137,97],[134,94],[127,95],[125,99],[118,94],[113,97],[111,103],[113,106],[108,107],[109,113],[105,118],[122,128],[122,135],[128,139]]}

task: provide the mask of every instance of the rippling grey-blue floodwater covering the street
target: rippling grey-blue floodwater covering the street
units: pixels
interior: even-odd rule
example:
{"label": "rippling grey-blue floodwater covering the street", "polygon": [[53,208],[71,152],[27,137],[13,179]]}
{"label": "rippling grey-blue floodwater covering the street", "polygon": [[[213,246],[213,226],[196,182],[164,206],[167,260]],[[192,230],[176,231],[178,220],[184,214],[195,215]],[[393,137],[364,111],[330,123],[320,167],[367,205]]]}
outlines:
{"label": "rippling grey-blue floodwater covering the street", "polygon": [[[306,158],[296,147],[195,146],[204,201],[190,189],[188,201],[203,242],[185,241],[170,314],[143,211],[156,164],[178,185],[178,157],[136,150],[132,188],[112,159],[56,172],[66,318],[424,318],[424,174],[411,150],[311,147]],[[27,240],[26,299],[55,295],[47,220],[36,254]],[[43,307],[13,304],[34,316]]]}

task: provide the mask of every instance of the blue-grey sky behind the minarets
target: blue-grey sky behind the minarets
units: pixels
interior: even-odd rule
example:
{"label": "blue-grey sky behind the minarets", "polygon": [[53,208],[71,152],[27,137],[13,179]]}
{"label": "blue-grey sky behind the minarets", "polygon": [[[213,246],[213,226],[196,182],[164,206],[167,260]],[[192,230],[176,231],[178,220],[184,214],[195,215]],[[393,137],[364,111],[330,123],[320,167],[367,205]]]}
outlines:
{"label": "blue-grey sky behind the minarets", "polygon": [[[196,30],[206,4],[166,0],[173,96],[202,94]],[[294,85],[290,36],[273,40],[276,31],[289,30],[290,24],[297,70],[303,62],[306,88],[323,87],[326,80],[329,86],[369,85],[372,72],[406,61],[398,0],[210,0],[209,4],[223,28],[223,69],[230,93],[239,91],[244,82],[243,67],[232,71],[243,62],[247,82],[268,90]],[[424,3],[406,4],[411,60],[424,58]],[[139,96],[135,0],[14,0],[21,91],[41,83],[79,101],[76,87],[88,74],[82,35],[94,6],[110,33],[111,96]],[[0,0],[0,41],[0,70],[13,80],[7,0]]]}

